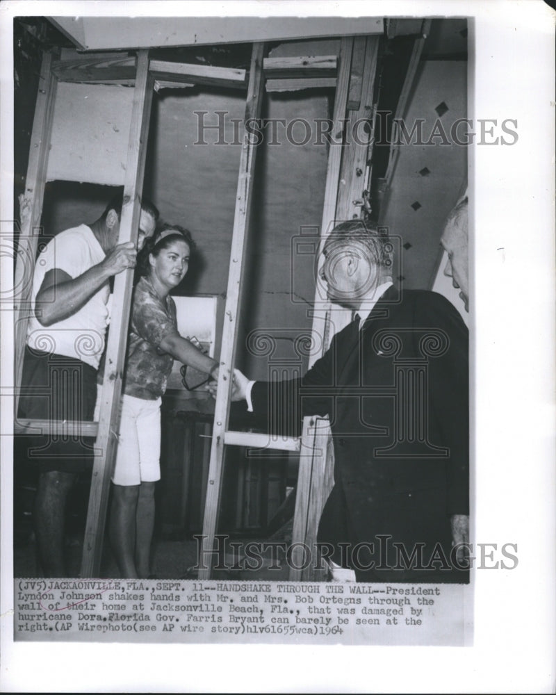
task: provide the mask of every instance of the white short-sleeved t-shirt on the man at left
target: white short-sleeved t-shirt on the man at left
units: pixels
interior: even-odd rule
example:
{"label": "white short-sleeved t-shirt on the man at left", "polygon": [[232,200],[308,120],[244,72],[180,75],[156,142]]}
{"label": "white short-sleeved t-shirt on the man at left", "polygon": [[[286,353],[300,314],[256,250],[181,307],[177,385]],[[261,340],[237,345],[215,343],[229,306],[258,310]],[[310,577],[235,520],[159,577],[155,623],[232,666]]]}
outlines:
{"label": "white short-sleeved t-shirt on the man at left", "polygon": [[60,232],[44,248],[37,258],[33,275],[33,316],[27,329],[29,347],[65,357],[75,357],[95,369],[98,368],[108,325],[108,281],[79,311],[51,326],[40,325],[34,312],[35,299],[49,270],[63,270],[75,279],[83,275],[85,270],[103,261],[104,257],[104,251],[97,238],[85,224]]}

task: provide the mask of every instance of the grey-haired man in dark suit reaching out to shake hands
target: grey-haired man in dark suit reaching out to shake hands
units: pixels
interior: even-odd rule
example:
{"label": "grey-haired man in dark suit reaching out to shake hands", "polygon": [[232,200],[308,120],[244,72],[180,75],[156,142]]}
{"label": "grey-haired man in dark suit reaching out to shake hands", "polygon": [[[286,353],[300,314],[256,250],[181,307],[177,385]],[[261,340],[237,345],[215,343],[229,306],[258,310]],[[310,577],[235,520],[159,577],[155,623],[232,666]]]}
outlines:
{"label": "grey-haired man in dark suit reaching out to shake hands", "polygon": [[318,540],[334,564],[357,581],[466,582],[466,326],[441,295],[393,285],[393,244],[361,220],[335,227],[323,254],[329,300],[354,321],[301,379],[236,373],[234,400],[288,434],[304,415],[329,417],[334,488]]}

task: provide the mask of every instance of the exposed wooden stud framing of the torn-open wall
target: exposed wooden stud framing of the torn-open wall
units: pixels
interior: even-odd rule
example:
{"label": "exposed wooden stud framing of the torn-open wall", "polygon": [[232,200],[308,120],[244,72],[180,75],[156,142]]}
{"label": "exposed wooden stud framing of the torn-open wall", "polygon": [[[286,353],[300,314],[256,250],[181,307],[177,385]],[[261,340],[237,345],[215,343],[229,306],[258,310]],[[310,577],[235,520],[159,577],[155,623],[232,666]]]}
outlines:
{"label": "exposed wooden stud framing of the torn-open wall", "polygon": [[[325,204],[322,211],[321,239],[324,240],[334,222],[346,214],[355,197],[360,195],[361,175],[357,170],[366,165],[367,147],[361,151],[351,145],[343,147],[343,123],[346,110],[352,116],[368,116],[373,104],[373,83],[377,62],[379,38],[342,38],[338,56],[302,56],[300,58],[264,58],[263,44],[254,44],[252,62],[247,81],[245,70],[169,63],[149,60],[147,51],[139,51],[135,59],[121,54],[103,54],[87,58],[53,60],[50,54],[44,57],[41,83],[29,160],[26,194],[31,198],[31,215],[24,222],[19,238],[19,256],[15,272],[16,287],[21,287],[17,304],[16,325],[16,384],[21,381],[22,355],[26,337],[27,317],[30,310],[28,298],[31,293],[29,269],[34,265],[38,229],[42,213],[44,181],[47,178],[52,113],[56,99],[58,81],[80,82],[89,85],[133,85],[133,105],[124,172],[124,207],[120,224],[120,243],[136,241],[136,230],[140,213],[139,193],[145,173],[145,156],[149,115],[152,95],[158,86],[225,85],[227,88],[247,89],[245,121],[258,118],[261,113],[263,90],[299,90],[320,88],[322,85],[336,87],[334,101],[334,127],[332,144],[329,147]],[[352,60],[353,56],[353,60]],[[268,78],[268,79],[267,79]],[[244,122],[245,122],[244,121]],[[215,528],[218,522],[220,489],[222,486],[222,464],[226,445],[261,447],[268,446],[268,437],[227,429],[231,393],[231,372],[234,365],[238,334],[238,312],[243,279],[243,261],[250,221],[253,173],[256,147],[247,133],[243,133],[240,169],[236,194],[236,211],[231,245],[227,303],[224,310],[224,327],[220,349],[220,373],[218,396],[215,402],[215,418],[211,459],[208,471],[208,486],[204,514],[203,551],[213,548]],[[351,201],[351,202],[350,202]],[[344,209],[345,208],[345,209]],[[122,371],[126,350],[127,326],[131,300],[132,273],[126,271],[115,277],[111,330],[106,350],[106,378],[101,395],[99,423],[38,423],[16,422],[16,431],[75,432],[83,436],[96,434],[95,463],[92,472],[90,502],[81,575],[99,574],[102,539],[106,520],[106,506],[111,472],[115,461],[117,430],[117,402],[122,387]],[[332,307],[322,302],[316,293],[313,311],[313,333],[325,336],[323,350],[329,343]],[[334,315],[336,318],[336,315]],[[334,327],[334,330],[338,326]],[[317,356],[313,356],[313,361]],[[296,501],[293,541],[316,540],[316,528],[320,512],[332,486],[333,454],[327,420],[305,418],[300,440],[285,438],[272,441],[271,448],[300,451],[300,473]],[[211,569],[201,571],[201,578],[208,578]],[[314,579],[316,575],[292,570],[292,579]]]}

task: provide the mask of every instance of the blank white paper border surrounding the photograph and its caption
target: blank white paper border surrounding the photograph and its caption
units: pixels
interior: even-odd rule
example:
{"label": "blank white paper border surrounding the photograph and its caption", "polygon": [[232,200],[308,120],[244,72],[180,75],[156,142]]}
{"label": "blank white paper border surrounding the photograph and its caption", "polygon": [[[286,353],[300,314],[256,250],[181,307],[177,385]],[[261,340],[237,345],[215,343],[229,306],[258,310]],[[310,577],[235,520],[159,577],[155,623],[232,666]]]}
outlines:
{"label": "blank white paper border surrounding the photograph and its caption", "polygon": [[[474,17],[475,119],[518,122],[512,147],[470,149],[474,219],[478,542],[518,544],[512,571],[476,571],[474,644],[381,646],[13,643],[11,441],[1,445],[1,689],[15,692],[553,692],[555,687],[554,13],[540,0],[49,2],[0,6],[0,220],[13,220],[12,20],[17,15]],[[471,28],[471,27],[470,27]],[[474,64],[474,65],[473,65]],[[533,236],[532,240],[530,237]],[[1,256],[3,285],[11,260]],[[13,345],[2,311],[2,353]],[[473,338],[472,338],[473,342]],[[1,363],[3,391],[10,361]],[[472,392],[473,393],[473,392]],[[0,399],[2,423],[9,398]],[[473,413],[473,410],[472,410]],[[473,422],[473,420],[472,420]],[[3,425],[3,428],[5,425]],[[2,430],[4,432],[4,429]]]}

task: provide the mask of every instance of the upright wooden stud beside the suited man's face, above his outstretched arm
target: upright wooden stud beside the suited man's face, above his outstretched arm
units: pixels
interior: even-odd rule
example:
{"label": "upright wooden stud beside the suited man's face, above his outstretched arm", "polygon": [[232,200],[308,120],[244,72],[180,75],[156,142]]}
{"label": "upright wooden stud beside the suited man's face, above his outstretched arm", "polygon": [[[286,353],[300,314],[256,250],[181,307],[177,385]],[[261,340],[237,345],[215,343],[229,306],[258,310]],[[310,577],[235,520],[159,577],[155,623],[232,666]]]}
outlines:
{"label": "upright wooden stud beside the suited man's face, above his outstretched arm", "polygon": [[[340,46],[338,82],[336,85],[336,99],[334,99],[334,125],[330,133],[330,149],[328,153],[325,202],[322,206],[322,221],[320,223],[320,250],[324,246],[325,240],[334,227],[336,221],[336,198],[338,195],[338,179],[340,177],[340,166],[342,159],[342,140],[343,140],[343,118],[345,117],[345,107],[347,104],[347,90],[350,83],[350,67],[352,61],[353,39],[343,37]],[[319,250],[318,272],[322,268],[322,254]],[[318,276],[320,277],[320,276]],[[330,342],[329,336],[329,313],[330,302],[327,301],[325,287],[317,280],[315,289],[315,302],[313,305],[313,325],[312,334],[322,335],[322,352],[309,356],[309,367],[326,352]]]}

